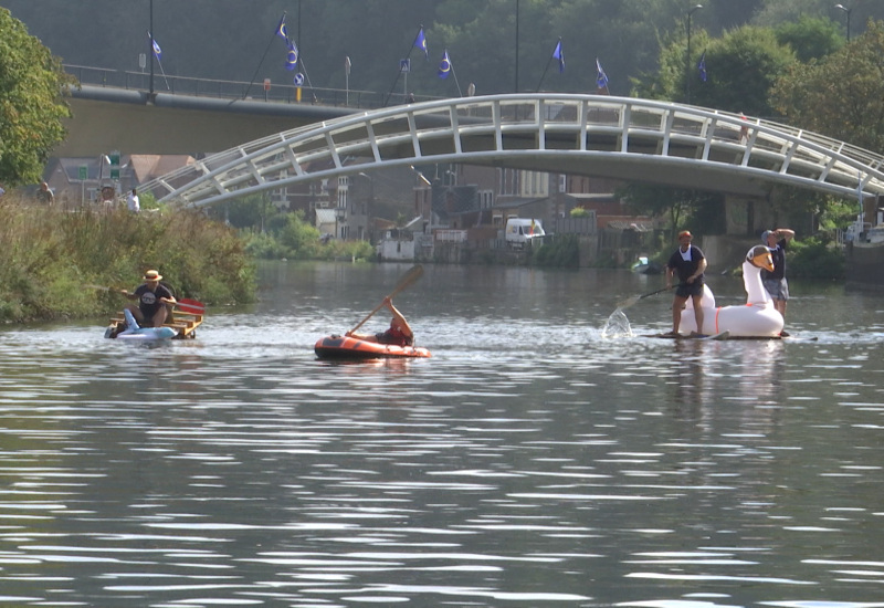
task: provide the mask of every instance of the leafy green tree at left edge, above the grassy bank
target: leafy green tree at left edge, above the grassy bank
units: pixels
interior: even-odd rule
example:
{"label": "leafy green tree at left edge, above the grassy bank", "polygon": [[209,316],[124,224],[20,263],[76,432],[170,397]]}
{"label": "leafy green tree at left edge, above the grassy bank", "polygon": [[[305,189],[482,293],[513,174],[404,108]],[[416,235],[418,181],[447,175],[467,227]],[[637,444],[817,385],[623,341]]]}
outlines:
{"label": "leafy green tree at left edge, above the grassy bank", "polygon": [[73,78],[24,24],[0,8],[0,181],[40,181],[52,149],[65,137],[63,98]]}

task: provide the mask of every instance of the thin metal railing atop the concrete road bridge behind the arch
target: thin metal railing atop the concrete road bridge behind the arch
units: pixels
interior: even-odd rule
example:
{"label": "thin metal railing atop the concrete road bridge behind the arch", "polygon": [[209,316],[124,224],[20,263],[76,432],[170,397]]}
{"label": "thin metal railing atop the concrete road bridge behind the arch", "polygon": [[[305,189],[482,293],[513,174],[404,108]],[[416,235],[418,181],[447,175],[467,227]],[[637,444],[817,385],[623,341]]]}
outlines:
{"label": "thin metal railing atop the concrete road bridge behind the arch", "polygon": [[[150,74],[146,72],[128,72],[85,65],[64,64],[64,70],[76,77],[81,84],[125,88],[130,91],[150,91]],[[298,102],[298,88],[301,101]],[[314,86],[295,86],[293,84],[271,83],[264,90],[264,81],[253,83],[242,81],[221,81],[212,78],[194,78],[189,76],[171,76],[162,72],[154,73],[154,92],[173,95],[191,95],[196,97],[218,97],[222,99],[250,99],[269,103],[315,103],[337,107],[358,107],[372,109],[382,107],[386,95],[375,91],[322,88]],[[392,103],[402,103],[399,95]],[[429,97],[427,97],[429,98]]]}

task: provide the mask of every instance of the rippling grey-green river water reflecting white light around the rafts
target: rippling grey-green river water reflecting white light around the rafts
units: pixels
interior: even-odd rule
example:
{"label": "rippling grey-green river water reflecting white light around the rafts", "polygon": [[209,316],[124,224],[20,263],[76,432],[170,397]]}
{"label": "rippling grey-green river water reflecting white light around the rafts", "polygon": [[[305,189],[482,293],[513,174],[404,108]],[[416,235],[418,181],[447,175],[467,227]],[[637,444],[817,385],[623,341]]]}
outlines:
{"label": "rippling grey-green river water reflecting white light around the rafts", "polygon": [[884,607],[877,298],[674,343],[666,294],[606,331],[659,276],[429,265],[432,359],[317,361],[408,268],[267,265],[156,347],[0,332],[0,605]]}

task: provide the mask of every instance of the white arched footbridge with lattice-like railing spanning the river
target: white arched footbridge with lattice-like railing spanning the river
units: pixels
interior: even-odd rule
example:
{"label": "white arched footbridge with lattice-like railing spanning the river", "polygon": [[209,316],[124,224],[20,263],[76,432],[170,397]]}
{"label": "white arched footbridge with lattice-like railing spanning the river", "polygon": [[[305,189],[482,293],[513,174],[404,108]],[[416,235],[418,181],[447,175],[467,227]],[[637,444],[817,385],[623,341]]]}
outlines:
{"label": "white arched footbridge with lattice-like railing spanning the river", "polygon": [[746,197],[766,197],[775,185],[843,197],[884,193],[884,157],[843,141],[699,107],[551,93],[460,97],[343,116],[214,154],[141,190],[200,207],[372,167],[436,163]]}

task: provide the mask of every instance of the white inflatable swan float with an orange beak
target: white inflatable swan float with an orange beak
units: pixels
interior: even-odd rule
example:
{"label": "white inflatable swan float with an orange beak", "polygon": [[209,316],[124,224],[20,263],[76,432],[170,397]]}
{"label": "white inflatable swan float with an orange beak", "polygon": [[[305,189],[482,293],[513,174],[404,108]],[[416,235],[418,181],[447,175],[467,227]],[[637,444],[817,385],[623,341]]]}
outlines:
{"label": "white inflatable swan float with an orange beak", "polygon": [[[764,245],[756,245],[746,254],[743,262],[743,284],[746,287],[746,305],[715,306],[715,296],[708,285],[703,287],[703,333],[720,334],[730,337],[775,338],[782,332],[782,315],[774,307],[774,300],[761,283],[761,269],[772,271],[774,260]],[[682,312],[681,332],[697,331],[692,298],[687,298]]]}

